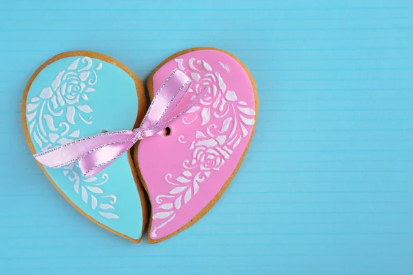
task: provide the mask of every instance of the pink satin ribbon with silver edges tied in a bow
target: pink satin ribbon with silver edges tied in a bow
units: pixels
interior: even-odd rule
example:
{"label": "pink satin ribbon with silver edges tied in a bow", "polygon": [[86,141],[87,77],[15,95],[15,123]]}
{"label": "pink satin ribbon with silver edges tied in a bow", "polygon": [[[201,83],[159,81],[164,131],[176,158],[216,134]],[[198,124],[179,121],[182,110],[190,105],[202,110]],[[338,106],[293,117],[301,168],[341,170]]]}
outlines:
{"label": "pink satin ribbon with silver edges tied in a bow", "polygon": [[[128,151],[138,140],[165,135],[165,128],[186,113],[206,94],[204,89],[195,98],[184,98],[191,80],[176,69],[162,84],[139,128],[100,133],[33,155],[41,164],[59,168],[78,162],[85,177],[92,177]],[[187,101],[185,101],[185,99]]]}

